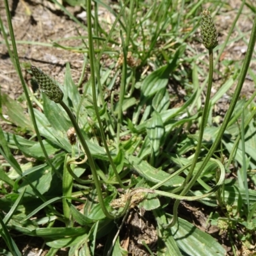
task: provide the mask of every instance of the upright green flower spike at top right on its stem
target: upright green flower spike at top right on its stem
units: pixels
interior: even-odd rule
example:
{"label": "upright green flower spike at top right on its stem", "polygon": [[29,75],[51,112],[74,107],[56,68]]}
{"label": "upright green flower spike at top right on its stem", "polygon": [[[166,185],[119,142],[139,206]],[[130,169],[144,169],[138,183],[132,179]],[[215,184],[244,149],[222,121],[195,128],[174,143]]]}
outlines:
{"label": "upright green flower spike at top right on its stem", "polygon": [[201,38],[206,49],[214,49],[218,45],[218,33],[208,10],[201,13]]}

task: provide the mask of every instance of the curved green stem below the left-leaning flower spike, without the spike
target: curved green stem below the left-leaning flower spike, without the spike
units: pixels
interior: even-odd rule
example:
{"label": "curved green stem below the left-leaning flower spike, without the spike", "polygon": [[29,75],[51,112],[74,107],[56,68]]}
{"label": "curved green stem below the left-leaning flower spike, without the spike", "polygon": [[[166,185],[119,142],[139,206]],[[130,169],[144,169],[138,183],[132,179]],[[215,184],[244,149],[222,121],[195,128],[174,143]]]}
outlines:
{"label": "curved green stem below the left-leaning flower spike, without the spike", "polygon": [[99,182],[99,178],[98,178],[98,175],[97,175],[95,163],[93,161],[93,157],[92,157],[92,154],[90,152],[90,149],[88,148],[88,145],[84,140],[83,134],[82,134],[81,130],[79,129],[78,125],[77,125],[76,119],[74,118],[74,115],[72,114],[70,109],[67,107],[67,105],[62,100],[60,102],[60,105],[67,112],[72,124],[74,125],[74,128],[76,130],[76,134],[77,134],[77,136],[80,140],[80,143],[84,148],[84,152],[85,152],[86,156],[88,157],[88,162],[90,164],[90,168],[91,168],[91,171],[92,171],[93,180],[94,180],[94,183],[95,183],[95,188],[96,188],[96,191],[97,191],[97,195],[98,195],[98,198],[99,198],[99,203],[100,203],[101,209],[104,212],[104,214],[106,215],[106,217],[108,217],[109,219],[114,219],[115,216],[110,214],[108,212],[108,210],[106,209],[106,207],[105,207],[103,196],[102,196],[102,191],[100,189],[100,182]]}

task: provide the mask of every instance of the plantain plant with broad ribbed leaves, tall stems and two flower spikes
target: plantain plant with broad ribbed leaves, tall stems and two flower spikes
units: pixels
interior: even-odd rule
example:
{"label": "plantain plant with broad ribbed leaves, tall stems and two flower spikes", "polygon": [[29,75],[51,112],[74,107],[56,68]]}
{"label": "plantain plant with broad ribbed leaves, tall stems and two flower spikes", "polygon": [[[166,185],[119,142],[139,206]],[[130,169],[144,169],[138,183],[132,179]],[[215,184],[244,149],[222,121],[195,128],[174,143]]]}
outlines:
{"label": "plantain plant with broad ribbed leaves, tall stems and two flower spikes", "polygon": [[[54,3],[60,5],[57,1]],[[100,1],[94,3],[94,8],[101,4],[109,9]],[[232,81],[223,84],[221,92],[211,99],[213,49],[218,48],[218,33],[208,10],[202,12],[200,22],[202,44],[209,52],[206,97],[201,111],[196,108],[196,103],[204,86],[201,89],[198,84],[182,106],[170,108],[170,94],[166,86],[170,74],[175,74],[179,69],[181,56],[186,50],[185,41],[177,44],[175,54],[170,59],[162,49],[163,62],[166,64],[161,63],[161,67],[151,74],[145,77],[140,74],[140,78],[136,78],[150,56],[156,53],[157,38],[167,28],[168,22],[177,19],[174,13],[171,17],[168,12],[169,7],[174,8],[178,1],[162,1],[159,6],[154,3],[145,19],[136,17],[139,1],[125,1],[123,5],[120,4],[118,14],[111,10],[115,13],[115,23],[108,35],[103,31],[103,35],[98,35],[103,36],[102,44],[100,40],[95,41],[93,34],[99,33],[93,28],[100,28],[100,24],[97,24],[97,15],[92,19],[92,2],[86,1],[86,6],[80,3],[87,11],[86,45],[90,79],[83,86],[81,95],[72,80],[68,64],[63,85],[45,74],[44,70],[31,65],[28,72],[31,72],[32,83],[39,84],[42,100],[29,95],[22,77],[8,1],[4,0],[4,4],[12,50],[8,40],[6,45],[24,89],[29,117],[7,95],[2,95],[1,99],[13,124],[25,128],[31,140],[0,129],[0,153],[10,168],[9,172],[4,172],[1,166],[0,172],[4,195],[0,200],[0,234],[6,243],[2,252],[21,255],[11,233],[11,230],[16,230],[19,234],[42,237],[50,248],[47,255],[57,255],[58,250],[65,247],[68,248],[68,255],[127,255],[127,250],[120,245],[118,234],[129,212],[133,211],[131,209],[139,207],[153,214],[156,220],[157,246],[153,248],[145,241],[141,242],[151,255],[224,255],[224,248],[212,236],[179,218],[178,206],[181,200],[197,200],[212,209],[220,207],[224,210],[231,204],[228,201],[230,198],[234,201],[245,198],[246,220],[248,223],[255,220],[255,191],[246,187],[245,167],[248,163],[243,157],[236,159],[234,156],[241,151],[239,141],[243,145],[244,135],[248,136],[245,129],[252,125],[255,115],[255,109],[250,110],[250,115],[245,115],[243,111],[253,104],[254,96],[243,102],[243,108],[238,100],[253,54],[256,21],[228,111],[219,127],[211,127],[212,107]],[[127,8],[129,13],[125,12]],[[61,6],[61,10],[68,13],[64,6]],[[157,15],[154,16],[154,13]],[[141,29],[144,50],[144,22],[158,19],[148,51],[138,50],[138,38],[134,32],[136,19],[139,20],[137,29]],[[195,20],[198,22],[198,17]],[[180,20],[175,22],[178,26]],[[116,24],[122,28],[118,35],[122,52],[114,68],[116,74],[109,79],[111,70],[102,67],[100,58],[113,40]],[[84,28],[83,24],[81,26]],[[95,54],[95,45],[101,47],[98,54]],[[84,67],[85,64],[84,61]],[[108,92],[113,90],[118,76],[121,76],[120,88],[115,101],[114,92],[110,97]],[[196,83],[196,66],[193,76]],[[102,81],[108,84],[108,88],[104,88]],[[41,111],[32,107],[31,99],[36,100]],[[225,134],[230,133],[238,118],[243,120],[241,132],[236,140],[227,141]],[[198,133],[191,136],[186,126],[189,130],[189,125],[194,123],[200,125]],[[211,134],[211,143],[205,140],[205,134]],[[221,143],[230,154],[228,161],[223,161],[223,155],[218,156]],[[24,156],[33,157],[35,163],[17,163],[11,148],[19,150]],[[245,147],[242,153],[245,156]],[[247,154],[252,156],[250,152]],[[234,192],[232,184],[225,182],[230,162],[234,160],[241,166],[244,164],[241,172],[244,176],[240,180],[243,189],[239,188],[238,193]],[[7,192],[5,185],[12,193]],[[170,214],[168,205],[172,199],[175,199],[175,203]],[[78,211],[78,204],[82,205],[83,211]],[[226,214],[225,218],[229,221],[230,215]],[[212,214],[212,223],[219,219],[221,216]],[[243,223],[243,218],[239,221]],[[249,229],[249,224],[246,228]],[[252,241],[252,236],[247,238]],[[97,251],[99,241],[105,241],[104,252]]]}

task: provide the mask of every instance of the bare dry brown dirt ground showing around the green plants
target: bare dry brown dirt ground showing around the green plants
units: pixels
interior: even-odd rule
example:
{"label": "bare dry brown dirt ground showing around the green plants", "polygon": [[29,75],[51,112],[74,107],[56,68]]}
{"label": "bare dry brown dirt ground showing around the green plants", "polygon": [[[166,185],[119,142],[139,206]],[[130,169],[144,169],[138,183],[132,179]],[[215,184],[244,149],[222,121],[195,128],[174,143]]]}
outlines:
{"label": "bare dry brown dirt ground showing around the green plants", "polygon": [[[77,82],[83,65],[83,52],[65,51],[63,49],[52,47],[51,44],[60,38],[86,35],[86,31],[78,28],[75,22],[70,20],[67,15],[58,10],[58,8],[49,1],[14,0],[9,1],[9,3],[10,9],[12,10],[12,22],[15,31],[15,38],[18,43],[17,47],[19,58],[22,65],[25,66],[26,63],[35,65],[36,67],[44,70],[46,74],[51,74],[51,76],[54,76],[56,80],[61,82],[63,81],[65,74],[65,65],[66,63],[70,63],[72,77],[74,78],[74,81]],[[220,32],[220,43],[225,40],[228,29],[236,16],[237,8],[239,8],[239,4],[241,4],[241,2],[237,0],[232,1],[231,4],[232,7],[228,7],[228,9],[223,12],[223,15],[216,17],[216,24],[218,26],[218,31]],[[79,7],[72,8],[67,6],[67,10],[76,17],[81,14],[81,18],[79,18],[81,22],[86,20]],[[243,15],[241,15],[241,18],[237,22],[237,27],[241,29],[243,33],[252,29],[252,17],[248,17],[246,13],[249,13],[249,11],[245,9]],[[0,1],[0,15],[1,19],[3,19],[5,28],[8,28],[3,1]],[[104,10],[100,10],[100,19],[104,19],[109,22],[109,24],[113,22],[111,15]],[[239,36],[239,33],[236,30],[232,33],[232,38],[237,38],[237,36]],[[246,52],[246,46],[244,46],[245,44],[243,40],[248,40],[248,37],[229,44],[221,56],[222,60],[243,59],[244,52]],[[64,44],[67,47],[81,47],[81,45],[83,45],[79,40],[62,41],[61,44]],[[256,72],[255,61],[252,62],[251,67]],[[221,67],[220,65],[219,68],[220,72],[223,72],[224,67]],[[30,84],[29,79],[31,78],[31,75],[25,71],[25,68],[23,68],[23,70],[24,77],[26,78],[26,81],[28,81],[28,84]],[[218,78],[217,74],[216,77],[214,77],[216,84],[213,89],[213,93],[214,90],[215,92],[218,90]],[[255,85],[252,83],[252,79],[249,76],[247,78],[248,79],[246,79],[246,83],[244,83],[241,95],[250,97],[255,90]],[[88,77],[85,76],[84,81],[87,79]],[[1,93],[7,93],[13,99],[17,99],[22,94],[22,86],[15,72],[15,68],[10,61],[2,34],[0,35],[0,85]],[[232,90],[230,90],[228,94],[232,95]],[[224,109],[223,111],[225,112],[227,106],[228,100],[223,99],[218,108],[222,110]],[[227,250],[227,255],[232,255],[227,234],[220,236],[218,229],[205,225],[209,216],[207,209],[204,209],[202,208],[202,205],[196,205],[195,203],[184,203],[180,206],[179,212],[180,214],[183,212],[184,216],[182,217],[195,223],[196,227],[207,231],[212,236],[216,237],[216,239],[218,239],[218,241],[223,244]],[[150,239],[150,243],[156,243],[157,236],[154,227],[154,217],[145,217],[145,214],[148,213],[140,212],[139,214],[132,210],[127,223],[125,224],[127,232],[124,232],[123,235],[121,234],[121,236],[123,236],[122,243],[124,246],[128,246],[127,244],[129,244],[129,252],[133,252],[133,255],[147,255],[147,253],[140,248],[140,236],[143,236],[144,240],[145,237]],[[136,230],[136,232],[134,230]],[[25,253],[24,255],[35,255],[33,252],[37,253],[38,251],[36,250],[41,248],[43,244],[42,240],[36,240],[35,237],[29,237],[29,239],[23,239],[23,241],[26,241],[26,243],[20,244],[20,248],[23,248],[23,252]],[[28,254],[28,252],[30,254]],[[46,252],[47,247],[44,247],[41,255],[44,255]],[[58,255],[67,255],[67,253],[63,251]]]}

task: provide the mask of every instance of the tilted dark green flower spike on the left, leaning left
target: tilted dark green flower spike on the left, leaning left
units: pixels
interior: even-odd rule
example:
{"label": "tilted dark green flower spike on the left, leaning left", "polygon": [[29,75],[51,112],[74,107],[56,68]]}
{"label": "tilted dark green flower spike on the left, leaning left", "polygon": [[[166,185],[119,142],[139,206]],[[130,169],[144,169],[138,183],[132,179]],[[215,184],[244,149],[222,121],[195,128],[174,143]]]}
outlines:
{"label": "tilted dark green flower spike on the left, leaning left", "polygon": [[63,99],[63,92],[60,87],[51,77],[47,76],[35,66],[31,66],[31,71],[36,79],[36,82],[40,85],[42,92],[44,92],[50,100],[56,103],[60,103]]}

